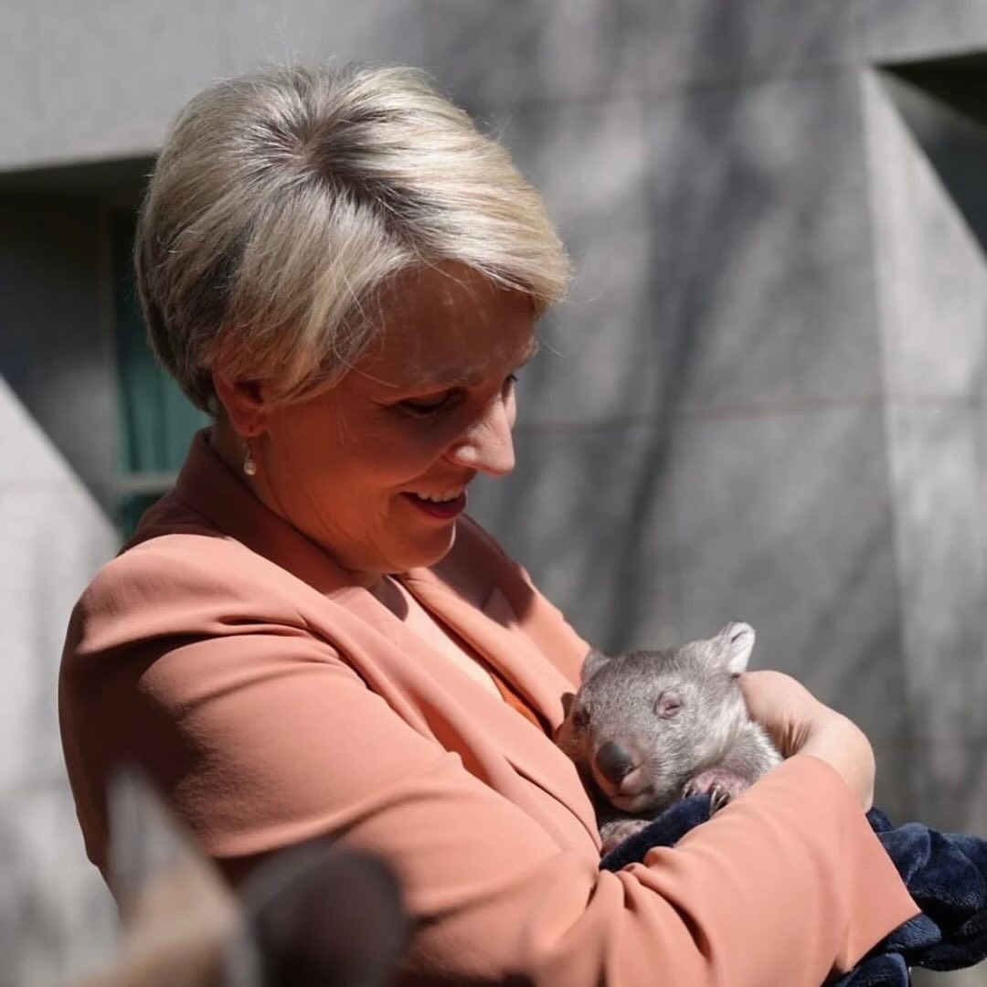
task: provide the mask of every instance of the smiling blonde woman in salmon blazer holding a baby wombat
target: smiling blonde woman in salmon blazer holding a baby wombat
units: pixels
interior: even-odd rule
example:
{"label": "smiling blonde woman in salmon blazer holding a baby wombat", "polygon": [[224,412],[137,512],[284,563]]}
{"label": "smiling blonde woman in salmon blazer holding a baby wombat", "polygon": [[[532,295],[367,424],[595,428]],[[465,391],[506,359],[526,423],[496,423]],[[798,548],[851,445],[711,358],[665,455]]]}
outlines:
{"label": "smiling blonde woman in salmon blazer holding a baby wombat", "polygon": [[152,342],[214,424],[94,580],[60,709],[90,858],[136,759],[231,881],[325,834],[399,873],[406,982],[785,987],[916,909],[873,754],[747,676],[791,758],[599,873],[552,742],[587,645],[463,513],[513,466],[513,381],[567,264],[506,154],[414,72],[267,72],[193,100],[136,258]]}

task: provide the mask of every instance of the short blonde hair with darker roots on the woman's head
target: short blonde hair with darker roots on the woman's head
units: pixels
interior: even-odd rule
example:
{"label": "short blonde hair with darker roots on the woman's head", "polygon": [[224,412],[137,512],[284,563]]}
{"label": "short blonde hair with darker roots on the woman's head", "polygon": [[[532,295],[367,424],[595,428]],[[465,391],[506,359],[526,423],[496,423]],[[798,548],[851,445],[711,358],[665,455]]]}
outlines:
{"label": "short blonde hair with darker roots on the woman's head", "polygon": [[409,68],[283,68],[179,115],[137,226],[151,344],[214,412],[211,369],[297,399],[381,332],[400,271],[453,261],[543,311],[569,262],[507,152]]}

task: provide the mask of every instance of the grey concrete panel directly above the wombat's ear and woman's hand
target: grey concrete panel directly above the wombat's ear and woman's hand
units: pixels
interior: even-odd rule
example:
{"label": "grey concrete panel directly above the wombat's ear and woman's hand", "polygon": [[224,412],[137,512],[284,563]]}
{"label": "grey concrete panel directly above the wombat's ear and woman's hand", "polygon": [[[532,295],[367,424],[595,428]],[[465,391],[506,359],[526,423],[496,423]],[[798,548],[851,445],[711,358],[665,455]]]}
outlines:
{"label": "grey concrete panel directly above the wombat's ear and woman's hand", "polygon": [[682,423],[670,470],[682,629],[758,633],[878,750],[908,736],[879,408]]}

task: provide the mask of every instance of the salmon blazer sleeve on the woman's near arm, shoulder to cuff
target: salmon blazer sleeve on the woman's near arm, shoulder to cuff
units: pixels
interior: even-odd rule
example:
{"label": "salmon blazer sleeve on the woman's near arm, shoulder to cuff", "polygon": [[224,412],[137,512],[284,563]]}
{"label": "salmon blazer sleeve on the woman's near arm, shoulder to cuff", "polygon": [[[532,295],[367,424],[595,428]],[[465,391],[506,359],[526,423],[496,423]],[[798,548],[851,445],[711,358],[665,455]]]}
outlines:
{"label": "salmon blazer sleeve on the woman's near arm, shoulder to cuff", "polygon": [[[233,878],[319,834],[379,853],[418,920],[403,983],[818,987],[916,911],[821,761],[792,758],[677,848],[600,873],[402,720],[289,606],[251,617],[231,572],[228,598],[169,612],[159,583],[131,574],[128,592],[154,604],[140,640],[118,609],[77,614],[61,681],[77,795],[137,759]],[[90,833],[105,821],[98,797],[79,811]]]}

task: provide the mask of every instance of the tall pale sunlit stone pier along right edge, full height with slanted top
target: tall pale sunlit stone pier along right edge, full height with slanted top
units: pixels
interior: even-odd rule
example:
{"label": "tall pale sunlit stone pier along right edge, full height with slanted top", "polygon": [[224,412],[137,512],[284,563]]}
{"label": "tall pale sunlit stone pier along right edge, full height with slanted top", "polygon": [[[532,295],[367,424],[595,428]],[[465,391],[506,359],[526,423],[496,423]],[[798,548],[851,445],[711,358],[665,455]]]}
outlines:
{"label": "tall pale sunlit stone pier along right edge, full height with slanted top", "polygon": [[987,142],[908,82],[868,75],[863,94],[912,790],[930,824],[983,831],[987,271],[957,168],[980,174]]}

